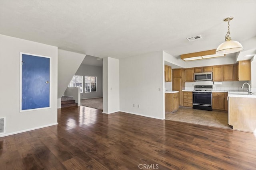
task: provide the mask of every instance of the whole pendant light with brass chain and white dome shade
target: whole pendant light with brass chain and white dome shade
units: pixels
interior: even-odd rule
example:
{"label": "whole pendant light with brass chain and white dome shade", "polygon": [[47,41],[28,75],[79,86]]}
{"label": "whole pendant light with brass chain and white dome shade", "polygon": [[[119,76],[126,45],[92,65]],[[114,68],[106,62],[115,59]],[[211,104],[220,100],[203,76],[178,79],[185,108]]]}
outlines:
{"label": "whole pendant light with brass chain and white dome shade", "polygon": [[229,36],[229,21],[233,20],[233,18],[234,17],[228,17],[224,19],[224,21],[228,21],[228,32],[225,36],[225,42],[220,44],[216,49],[216,54],[230,54],[243,50],[243,46],[238,41],[233,41]]}

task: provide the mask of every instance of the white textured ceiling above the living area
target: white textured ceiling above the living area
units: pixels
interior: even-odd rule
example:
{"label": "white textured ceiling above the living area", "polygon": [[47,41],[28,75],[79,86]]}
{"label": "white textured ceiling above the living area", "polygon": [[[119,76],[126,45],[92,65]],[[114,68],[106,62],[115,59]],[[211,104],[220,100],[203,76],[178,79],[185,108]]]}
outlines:
{"label": "white textured ceiling above the living area", "polygon": [[216,49],[228,16],[233,40],[255,37],[255,9],[250,0],[1,0],[0,34],[101,58],[178,57]]}

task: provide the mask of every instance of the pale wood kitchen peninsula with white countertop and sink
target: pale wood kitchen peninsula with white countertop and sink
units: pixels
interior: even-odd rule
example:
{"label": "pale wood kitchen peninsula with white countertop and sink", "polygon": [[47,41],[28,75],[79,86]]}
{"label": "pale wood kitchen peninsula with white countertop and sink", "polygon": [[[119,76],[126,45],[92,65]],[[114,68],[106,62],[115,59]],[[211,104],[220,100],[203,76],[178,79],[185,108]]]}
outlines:
{"label": "pale wood kitchen peninsula with white countertop and sink", "polygon": [[256,93],[228,92],[228,124],[239,131],[256,132]]}

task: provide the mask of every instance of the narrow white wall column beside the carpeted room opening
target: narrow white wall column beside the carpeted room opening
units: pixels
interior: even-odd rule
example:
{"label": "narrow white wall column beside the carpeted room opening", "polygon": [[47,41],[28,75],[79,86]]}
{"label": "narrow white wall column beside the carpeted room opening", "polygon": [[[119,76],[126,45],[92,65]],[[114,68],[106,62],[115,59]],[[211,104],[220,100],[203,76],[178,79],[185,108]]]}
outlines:
{"label": "narrow white wall column beside the carpeted room opening", "polygon": [[120,110],[119,60],[104,58],[103,70],[103,113],[109,114]]}

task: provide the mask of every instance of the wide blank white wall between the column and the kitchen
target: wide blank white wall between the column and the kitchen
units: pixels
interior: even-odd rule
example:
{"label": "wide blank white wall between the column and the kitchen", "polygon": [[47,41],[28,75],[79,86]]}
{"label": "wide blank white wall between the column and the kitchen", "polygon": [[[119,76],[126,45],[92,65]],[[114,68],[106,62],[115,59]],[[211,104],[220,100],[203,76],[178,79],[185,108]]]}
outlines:
{"label": "wide blank white wall between the column and the kitchen", "polygon": [[120,59],[121,111],[164,119],[163,90],[162,51]]}

